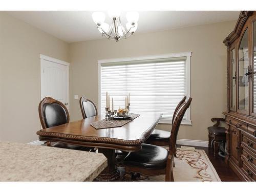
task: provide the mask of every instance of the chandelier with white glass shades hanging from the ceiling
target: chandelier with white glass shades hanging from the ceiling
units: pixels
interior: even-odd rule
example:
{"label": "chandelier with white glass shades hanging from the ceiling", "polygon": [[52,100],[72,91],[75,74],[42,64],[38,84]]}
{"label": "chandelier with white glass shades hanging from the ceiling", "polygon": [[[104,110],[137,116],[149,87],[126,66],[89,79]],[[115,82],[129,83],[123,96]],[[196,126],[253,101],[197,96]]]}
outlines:
{"label": "chandelier with white glass shades hanging from the ceiling", "polygon": [[119,11],[109,11],[109,16],[112,19],[111,26],[105,21],[105,14],[102,12],[94,12],[92,14],[93,21],[96,23],[99,32],[102,36],[108,39],[115,39],[119,41],[120,39],[126,39],[130,35],[134,35],[138,27],[139,13],[137,12],[127,12],[126,13],[126,29],[122,26]]}

